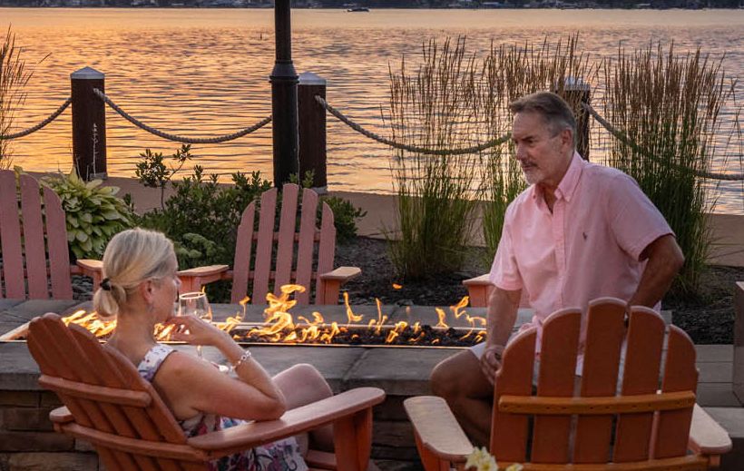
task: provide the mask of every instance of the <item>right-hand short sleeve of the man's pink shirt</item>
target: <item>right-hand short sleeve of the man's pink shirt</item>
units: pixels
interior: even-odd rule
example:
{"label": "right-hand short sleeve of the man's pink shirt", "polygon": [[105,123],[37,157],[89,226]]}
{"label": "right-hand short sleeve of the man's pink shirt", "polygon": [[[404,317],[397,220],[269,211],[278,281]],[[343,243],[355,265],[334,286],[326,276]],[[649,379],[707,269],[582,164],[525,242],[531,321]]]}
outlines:
{"label": "right-hand short sleeve of the man's pink shirt", "polygon": [[610,227],[618,245],[633,260],[641,260],[641,253],[652,241],[674,235],[664,216],[630,176],[621,173],[606,188]]}

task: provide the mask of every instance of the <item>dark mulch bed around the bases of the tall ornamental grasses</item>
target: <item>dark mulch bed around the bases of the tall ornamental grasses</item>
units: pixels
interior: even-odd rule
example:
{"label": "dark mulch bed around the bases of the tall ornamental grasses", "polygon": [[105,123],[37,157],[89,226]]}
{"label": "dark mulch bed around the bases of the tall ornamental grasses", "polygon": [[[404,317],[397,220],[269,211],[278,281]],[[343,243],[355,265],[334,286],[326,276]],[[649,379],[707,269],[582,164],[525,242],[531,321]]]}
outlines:
{"label": "dark mulch bed around the bases of the tall ornamental grasses", "polygon": [[[467,294],[462,281],[484,274],[490,263],[485,250],[469,248],[464,254],[461,271],[437,276],[430,280],[402,280],[387,257],[384,240],[357,237],[336,248],[337,266],[362,269],[348,290],[352,304],[383,304],[402,306],[450,306]],[[711,266],[703,275],[700,299],[664,299],[664,309],[671,309],[672,323],[684,329],[696,344],[731,344],[734,335],[733,292],[736,281],[744,280],[744,268]],[[396,289],[393,284],[402,285]]]}

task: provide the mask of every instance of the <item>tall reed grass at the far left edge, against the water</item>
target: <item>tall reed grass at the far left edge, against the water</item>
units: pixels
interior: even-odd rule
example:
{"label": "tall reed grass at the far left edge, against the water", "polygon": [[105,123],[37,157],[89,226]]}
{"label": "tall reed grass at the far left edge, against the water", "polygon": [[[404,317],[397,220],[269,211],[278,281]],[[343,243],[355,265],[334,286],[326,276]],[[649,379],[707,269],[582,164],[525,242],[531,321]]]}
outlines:
{"label": "tall reed grass at the far left edge, against the water", "polygon": [[[0,135],[9,134],[15,111],[25,102],[24,87],[31,78],[21,57],[21,49],[15,45],[15,34],[10,27],[0,45]],[[0,139],[0,169],[10,168],[10,141]]]}

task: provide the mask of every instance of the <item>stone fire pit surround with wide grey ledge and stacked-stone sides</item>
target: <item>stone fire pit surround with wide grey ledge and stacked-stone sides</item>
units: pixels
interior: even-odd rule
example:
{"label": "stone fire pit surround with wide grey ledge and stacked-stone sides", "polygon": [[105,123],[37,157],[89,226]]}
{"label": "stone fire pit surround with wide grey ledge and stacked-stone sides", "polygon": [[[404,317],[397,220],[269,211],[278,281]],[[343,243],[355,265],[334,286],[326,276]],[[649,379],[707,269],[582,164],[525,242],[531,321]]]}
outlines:
{"label": "stone fire pit surround with wide grey ledge and stacked-stone sides", "polygon": [[[246,321],[262,321],[264,306],[248,306]],[[77,301],[0,299],[0,336],[17,329],[45,312],[69,314],[77,309],[92,310],[90,303]],[[237,305],[213,305],[214,319],[224,320],[241,308]],[[308,319],[318,310],[328,322],[347,322],[344,306],[306,306],[291,309],[296,317]],[[376,306],[356,306],[354,312],[365,321],[377,319]],[[472,316],[485,316],[485,309],[468,308]],[[445,311],[449,311],[445,307]],[[432,307],[383,306],[388,322],[416,321],[436,325]],[[517,324],[528,320],[530,313],[520,311]],[[465,319],[453,319],[453,327],[467,327]],[[181,350],[195,350],[177,345]],[[418,469],[413,433],[403,411],[406,397],[430,394],[428,377],[432,368],[459,348],[369,348],[351,346],[251,346],[255,358],[271,374],[297,363],[309,363],[328,379],[334,391],[348,388],[376,387],[387,392],[387,400],[375,410],[372,456],[381,467]],[[205,347],[204,357],[224,364],[220,352]],[[195,353],[194,353],[195,354]],[[0,469],[97,470],[98,458],[87,444],[54,433],[47,415],[60,405],[54,393],[43,391],[37,384],[39,370],[24,341],[0,342]],[[397,463],[391,463],[397,462]]]}

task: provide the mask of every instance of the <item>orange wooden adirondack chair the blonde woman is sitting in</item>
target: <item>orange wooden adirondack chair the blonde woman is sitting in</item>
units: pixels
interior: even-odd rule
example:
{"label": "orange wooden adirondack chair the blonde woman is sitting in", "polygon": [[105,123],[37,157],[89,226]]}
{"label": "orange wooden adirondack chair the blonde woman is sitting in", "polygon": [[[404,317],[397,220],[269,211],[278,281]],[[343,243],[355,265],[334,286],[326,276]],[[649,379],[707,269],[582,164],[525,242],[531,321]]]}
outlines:
{"label": "orange wooden adirondack chair the blonde woman is sitting in", "polygon": [[186,438],[152,385],[114,348],[87,330],[69,328],[56,314],[32,320],[28,348],[41,368],[39,384],[64,407],[49,415],[58,432],[87,440],[109,470],[206,470],[220,456],[333,424],[335,454],[310,451],[312,469],[367,469],[372,407],[385,393],[352,389],[304,407],[279,420],[253,422]]}

